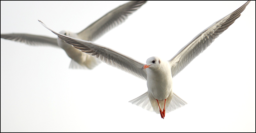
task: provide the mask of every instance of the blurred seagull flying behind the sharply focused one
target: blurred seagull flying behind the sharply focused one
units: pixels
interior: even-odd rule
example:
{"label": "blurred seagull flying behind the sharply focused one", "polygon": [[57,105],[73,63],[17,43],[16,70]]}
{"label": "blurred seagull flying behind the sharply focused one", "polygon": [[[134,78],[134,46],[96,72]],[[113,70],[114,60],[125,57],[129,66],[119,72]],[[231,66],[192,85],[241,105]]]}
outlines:
{"label": "blurred seagull flying behind the sharply focused one", "polygon": [[[72,33],[67,30],[63,30],[59,33],[73,38],[95,41],[113,27],[123,23],[129,15],[131,15],[145,3],[146,1],[130,1],[108,12],[79,33]],[[50,45],[53,47],[62,48],[67,53],[69,58],[72,59],[69,68],[93,69],[99,63],[101,63],[96,58],[84,52],[80,52],[80,50],[73,48],[71,45],[65,43],[59,38],[51,38],[26,33],[1,34],[1,38],[26,43],[29,45]]]}

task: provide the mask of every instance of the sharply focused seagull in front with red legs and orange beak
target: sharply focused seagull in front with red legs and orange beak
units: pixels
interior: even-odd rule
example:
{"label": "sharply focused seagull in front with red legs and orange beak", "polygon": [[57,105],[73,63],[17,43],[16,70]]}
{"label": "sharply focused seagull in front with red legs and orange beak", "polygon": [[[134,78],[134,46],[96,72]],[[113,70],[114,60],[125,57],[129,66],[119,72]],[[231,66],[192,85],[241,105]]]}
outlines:
{"label": "sharply focused seagull in front with red legs and orange beak", "polygon": [[48,30],[58,35],[60,39],[73,45],[74,48],[88,53],[113,67],[146,80],[148,91],[129,102],[149,111],[154,111],[160,114],[161,118],[164,119],[165,113],[187,104],[187,102],[179,98],[173,92],[172,79],[202,53],[221,33],[228,29],[229,26],[240,17],[241,12],[243,12],[249,3],[250,1],[246,2],[236,11],[228,14],[203,30],[170,60],[165,61],[154,56],[148,58],[146,64],[91,41],[61,35],[49,29],[40,20],[38,21]]}

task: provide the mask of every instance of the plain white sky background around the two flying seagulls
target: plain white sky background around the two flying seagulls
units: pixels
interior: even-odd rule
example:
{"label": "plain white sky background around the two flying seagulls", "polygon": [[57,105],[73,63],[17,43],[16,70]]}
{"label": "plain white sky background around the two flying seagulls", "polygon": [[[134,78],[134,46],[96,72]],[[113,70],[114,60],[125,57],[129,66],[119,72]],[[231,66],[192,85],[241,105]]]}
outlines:
{"label": "plain white sky background around the two flying seagulls", "polygon": [[[246,1],[149,1],[95,43],[145,63],[171,59]],[[80,32],[123,1],[1,1],[1,33]],[[160,114],[128,101],[146,81],[101,63],[69,69],[62,49],[1,39],[1,132],[255,132],[255,1],[173,79],[188,104]]]}

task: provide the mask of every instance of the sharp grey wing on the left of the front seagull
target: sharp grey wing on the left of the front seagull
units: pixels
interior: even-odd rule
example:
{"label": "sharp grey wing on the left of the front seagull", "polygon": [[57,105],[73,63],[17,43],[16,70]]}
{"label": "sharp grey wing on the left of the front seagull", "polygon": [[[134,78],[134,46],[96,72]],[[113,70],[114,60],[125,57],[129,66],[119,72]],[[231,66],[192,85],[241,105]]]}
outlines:
{"label": "sharp grey wing on the left of the front seagull", "polygon": [[[39,20],[38,20],[39,21]],[[92,55],[102,62],[107,63],[113,67],[131,73],[143,80],[147,80],[147,74],[145,69],[141,69],[145,64],[134,60],[133,58],[126,56],[122,53],[116,52],[110,48],[105,46],[101,46],[99,44],[84,41],[72,37],[68,37],[65,35],[61,35],[49,29],[43,22],[39,21],[43,26],[45,26],[48,30],[58,35],[60,39],[63,39],[66,43],[73,45],[73,47],[81,50],[82,52],[88,53]]]}

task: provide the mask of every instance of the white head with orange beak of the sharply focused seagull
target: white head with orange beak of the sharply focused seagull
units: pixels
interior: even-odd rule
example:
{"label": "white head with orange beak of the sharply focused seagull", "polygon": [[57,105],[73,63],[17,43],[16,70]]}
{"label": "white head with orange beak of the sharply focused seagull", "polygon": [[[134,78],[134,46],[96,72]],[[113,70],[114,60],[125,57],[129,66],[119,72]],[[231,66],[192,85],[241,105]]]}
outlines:
{"label": "white head with orange beak of the sharply focused seagull", "polygon": [[146,65],[142,67],[142,69],[150,68],[152,70],[158,70],[161,68],[161,59],[153,56],[147,59]]}

